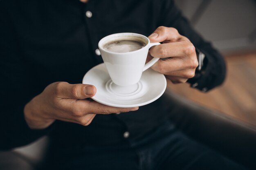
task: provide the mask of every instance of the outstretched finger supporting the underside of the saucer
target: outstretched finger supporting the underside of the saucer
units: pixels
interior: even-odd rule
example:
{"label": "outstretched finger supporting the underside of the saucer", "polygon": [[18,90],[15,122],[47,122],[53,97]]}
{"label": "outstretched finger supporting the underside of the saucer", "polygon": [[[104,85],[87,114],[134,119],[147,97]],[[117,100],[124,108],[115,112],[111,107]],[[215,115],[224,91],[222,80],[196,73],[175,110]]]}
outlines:
{"label": "outstretched finger supporting the underside of the saucer", "polygon": [[[124,113],[124,112],[135,111],[139,109],[139,107],[119,108],[119,107],[106,106],[104,104],[100,104],[95,101],[80,100],[78,102],[81,102],[81,106],[83,107],[84,110],[86,110],[88,113],[94,113],[94,114]],[[85,105],[85,102],[89,102],[87,106]]]}

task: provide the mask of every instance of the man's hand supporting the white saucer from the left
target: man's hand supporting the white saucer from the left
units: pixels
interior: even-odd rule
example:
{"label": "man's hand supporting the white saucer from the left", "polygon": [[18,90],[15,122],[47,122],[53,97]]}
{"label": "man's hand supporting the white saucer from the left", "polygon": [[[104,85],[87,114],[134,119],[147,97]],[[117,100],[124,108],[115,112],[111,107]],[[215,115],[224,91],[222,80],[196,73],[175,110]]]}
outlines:
{"label": "man's hand supporting the white saucer from the left", "polygon": [[52,83],[26,104],[25,120],[31,129],[47,128],[55,120],[87,126],[96,114],[128,112],[139,108],[116,108],[86,99],[95,94],[96,88],[92,85]]}

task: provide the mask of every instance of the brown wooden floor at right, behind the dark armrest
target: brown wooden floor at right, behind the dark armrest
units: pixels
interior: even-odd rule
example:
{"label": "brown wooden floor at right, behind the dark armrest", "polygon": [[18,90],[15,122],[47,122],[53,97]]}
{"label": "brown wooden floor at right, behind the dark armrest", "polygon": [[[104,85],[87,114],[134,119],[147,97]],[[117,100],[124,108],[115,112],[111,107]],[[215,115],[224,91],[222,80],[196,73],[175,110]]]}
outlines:
{"label": "brown wooden floor at right, behind the dark armrest", "polygon": [[199,104],[223,112],[256,126],[256,52],[225,56],[225,83],[208,93],[189,84],[172,84],[168,88]]}

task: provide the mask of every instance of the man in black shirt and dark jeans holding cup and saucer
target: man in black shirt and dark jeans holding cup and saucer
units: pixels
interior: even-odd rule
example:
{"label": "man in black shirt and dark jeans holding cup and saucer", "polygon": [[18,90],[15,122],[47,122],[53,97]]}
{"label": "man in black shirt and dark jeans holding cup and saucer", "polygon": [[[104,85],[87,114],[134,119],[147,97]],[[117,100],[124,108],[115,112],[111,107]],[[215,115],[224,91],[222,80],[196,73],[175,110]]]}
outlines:
{"label": "man in black shirt and dark jeans holding cup and saucer", "polygon": [[148,59],[164,58],[152,68],[173,83],[221,84],[222,56],[172,0],[2,0],[0,8],[1,149],[49,135],[55,169],[243,169],[175,129],[164,98],[115,108],[90,100],[97,89],[81,84],[102,62],[99,40],[119,32],[162,42]]}

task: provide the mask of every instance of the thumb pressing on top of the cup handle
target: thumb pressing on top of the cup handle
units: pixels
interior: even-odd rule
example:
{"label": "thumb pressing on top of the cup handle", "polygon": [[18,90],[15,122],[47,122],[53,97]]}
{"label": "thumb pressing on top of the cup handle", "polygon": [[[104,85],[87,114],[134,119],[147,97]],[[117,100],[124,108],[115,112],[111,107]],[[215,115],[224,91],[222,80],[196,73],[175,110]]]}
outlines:
{"label": "thumb pressing on top of the cup handle", "polygon": [[182,35],[175,28],[159,26],[148,38],[150,42],[177,41]]}

